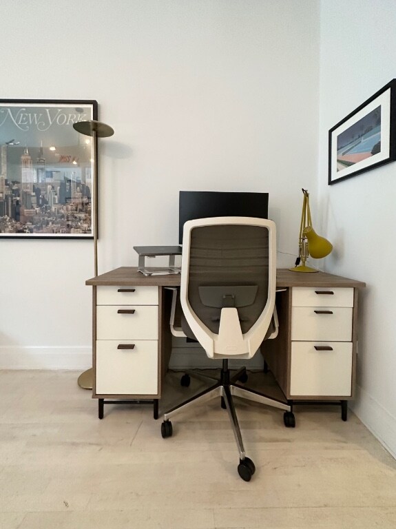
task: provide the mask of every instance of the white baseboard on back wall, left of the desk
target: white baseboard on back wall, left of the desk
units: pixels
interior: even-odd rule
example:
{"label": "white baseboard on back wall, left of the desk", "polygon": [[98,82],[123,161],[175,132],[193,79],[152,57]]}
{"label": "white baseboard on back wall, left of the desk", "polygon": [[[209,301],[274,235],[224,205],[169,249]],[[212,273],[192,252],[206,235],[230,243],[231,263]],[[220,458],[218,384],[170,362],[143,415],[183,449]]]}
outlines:
{"label": "white baseboard on back wall, left of the desk", "polygon": [[92,347],[0,347],[0,369],[76,369],[92,366]]}

